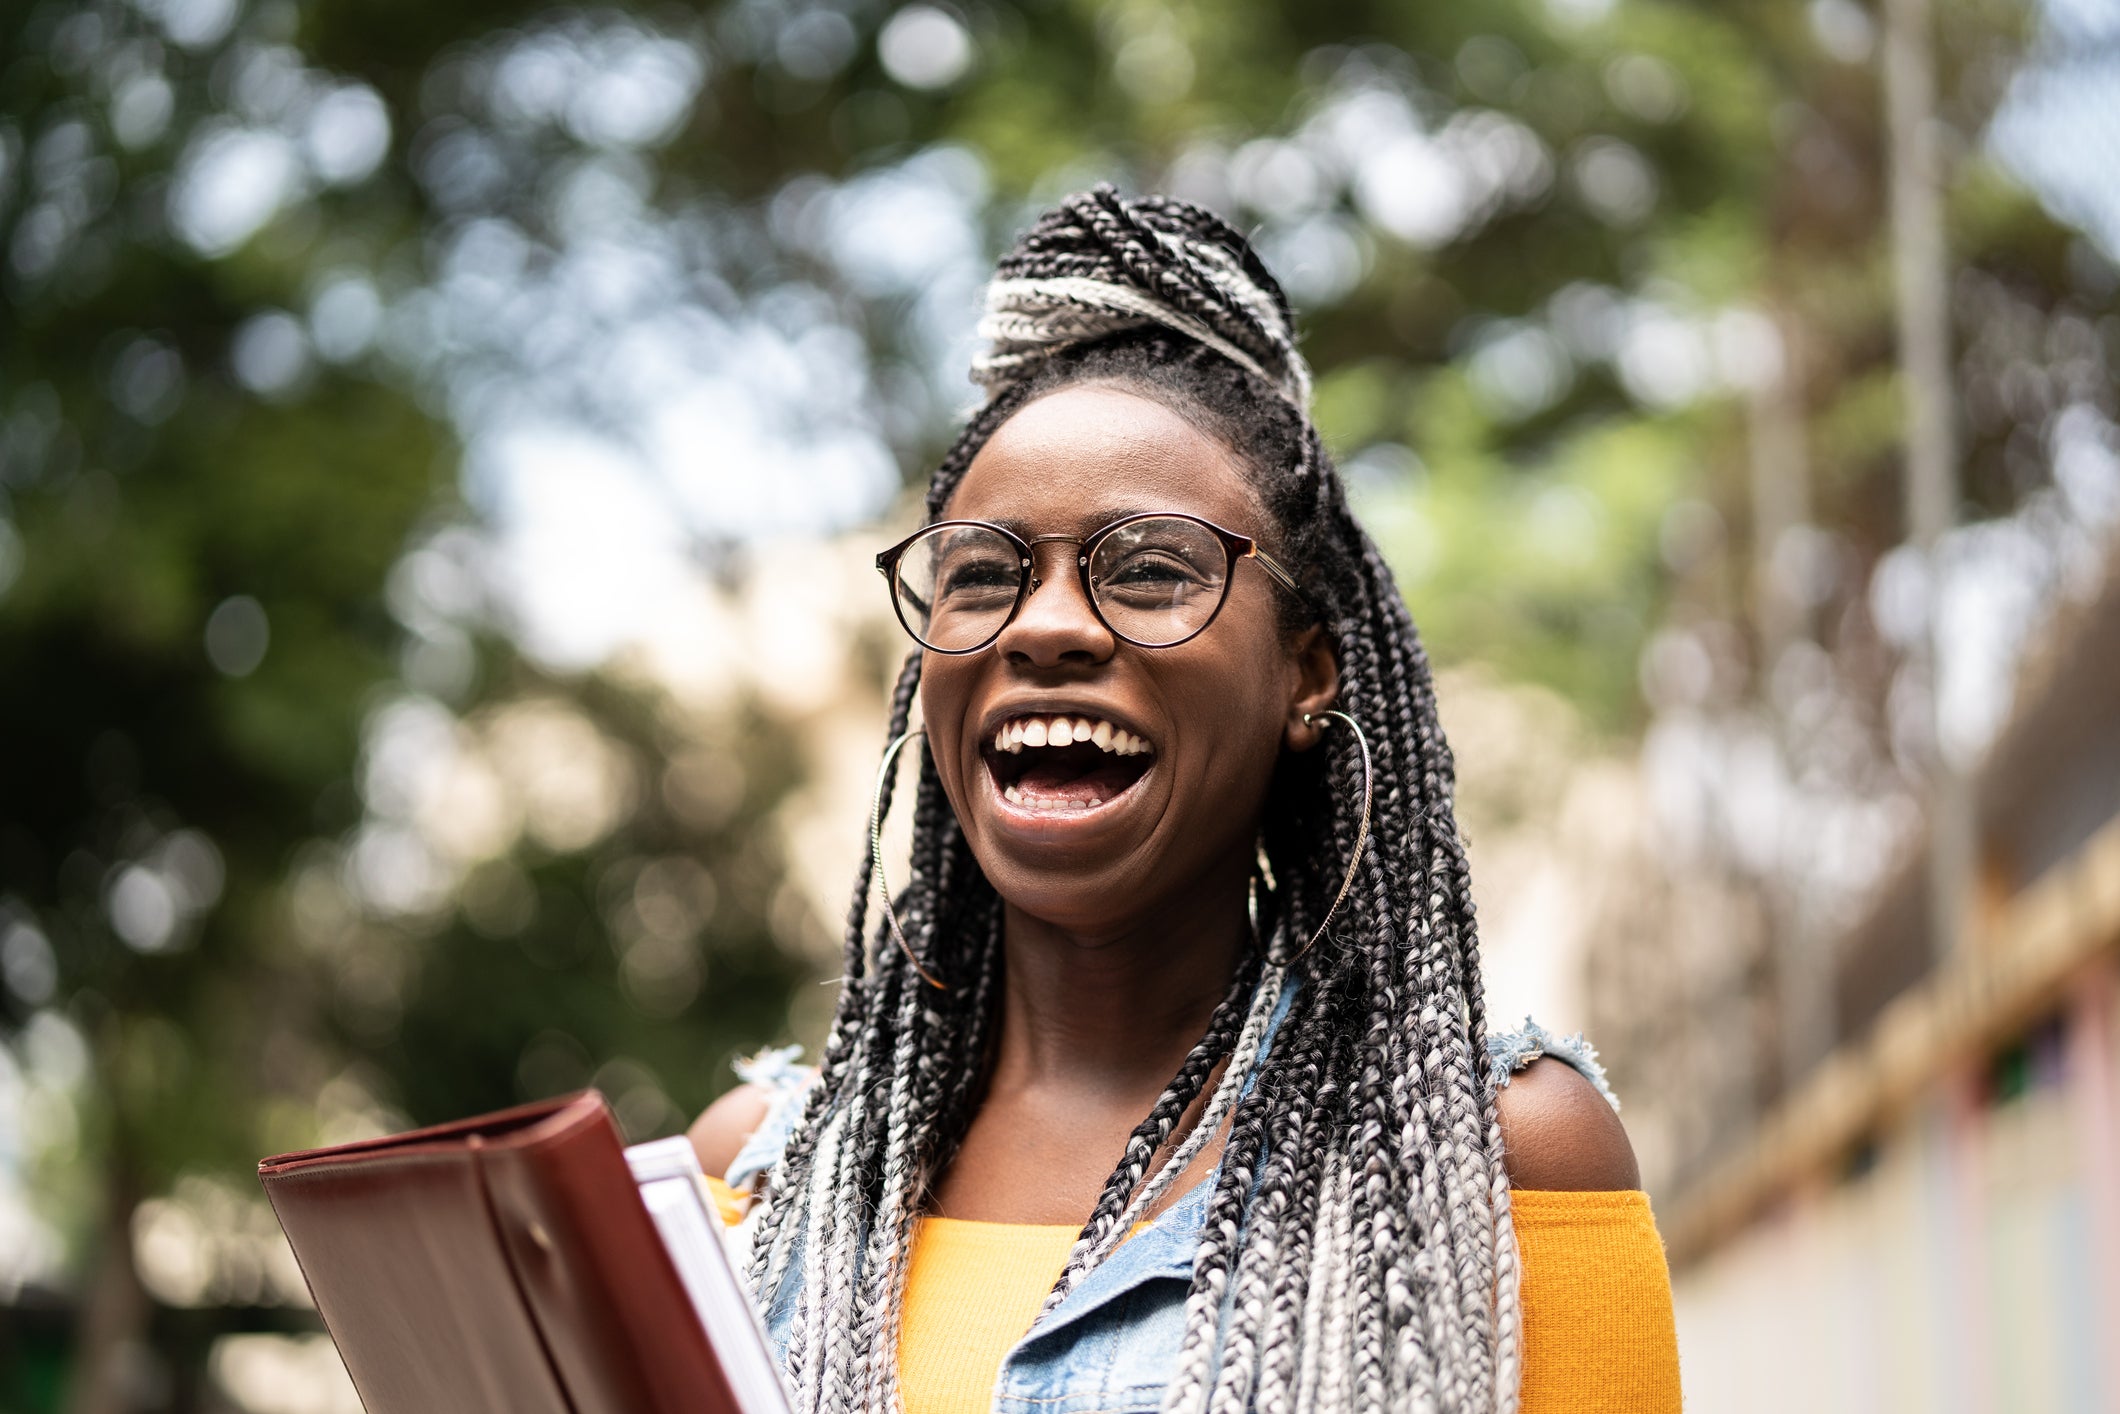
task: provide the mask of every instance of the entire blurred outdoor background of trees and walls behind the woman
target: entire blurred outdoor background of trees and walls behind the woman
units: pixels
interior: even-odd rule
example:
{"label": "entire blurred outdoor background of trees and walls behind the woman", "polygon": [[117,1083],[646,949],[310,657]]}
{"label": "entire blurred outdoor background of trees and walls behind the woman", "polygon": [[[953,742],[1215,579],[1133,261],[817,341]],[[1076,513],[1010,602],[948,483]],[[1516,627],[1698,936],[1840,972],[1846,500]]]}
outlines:
{"label": "entire blurred outdoor background of trees and walls behind the woman", "polygon": [[1255,233],[1692,1408],[2120,1410],[2120,11],[23,0],[0,1410],[354,1410],[261,1153],[812,1039],[992,254]]}

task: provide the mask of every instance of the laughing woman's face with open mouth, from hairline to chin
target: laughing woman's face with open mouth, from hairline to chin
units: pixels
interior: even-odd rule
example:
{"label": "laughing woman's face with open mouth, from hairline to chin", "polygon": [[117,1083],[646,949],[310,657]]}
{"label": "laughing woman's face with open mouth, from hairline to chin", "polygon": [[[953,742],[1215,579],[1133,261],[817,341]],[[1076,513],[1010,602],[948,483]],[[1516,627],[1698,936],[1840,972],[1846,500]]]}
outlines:
{"label": "laughing woman's face with open mouth, from hairline to chin", "polygon": [[[1132,511],[1268,530],[1230,452],[1164,405],[1109,386],[1026,405],[979,449],[948,507],[952,519],[1024,538],[1088,536]],[[1039,587],[992,647],[926,655],[929,750],[1001,897],[1054,926],[1113,937],[1200,888],[1242,882],[1274,761],[1285,744],[1314,744],[1302,717],[1329,706],[1338,676],[1319,630],[1293,642],[1280,630],[1257,564],[1234,566],[1206,632],[1143,649],[1096,617],[1073,545],[1035,555]],[[1054,744],[1085,731],[1090,740]]]}

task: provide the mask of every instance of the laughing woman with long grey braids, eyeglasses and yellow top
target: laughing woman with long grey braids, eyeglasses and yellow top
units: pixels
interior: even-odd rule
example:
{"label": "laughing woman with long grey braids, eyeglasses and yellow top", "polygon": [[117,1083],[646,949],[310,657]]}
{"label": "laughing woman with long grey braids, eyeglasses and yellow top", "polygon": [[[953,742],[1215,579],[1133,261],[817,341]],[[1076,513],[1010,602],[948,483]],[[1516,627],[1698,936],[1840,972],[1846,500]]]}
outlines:
{"label": "laughing woman with long grey braids, eyeglasses and yellow top", "polygon": [[1488,1035],[1427,659],[1280,288],[1107,189],[984,333],[878,558],[912,878],[873,929],[859,880],[823,1064],[693,1126],[795,1406],[1675,1410],[1601,1073]]}

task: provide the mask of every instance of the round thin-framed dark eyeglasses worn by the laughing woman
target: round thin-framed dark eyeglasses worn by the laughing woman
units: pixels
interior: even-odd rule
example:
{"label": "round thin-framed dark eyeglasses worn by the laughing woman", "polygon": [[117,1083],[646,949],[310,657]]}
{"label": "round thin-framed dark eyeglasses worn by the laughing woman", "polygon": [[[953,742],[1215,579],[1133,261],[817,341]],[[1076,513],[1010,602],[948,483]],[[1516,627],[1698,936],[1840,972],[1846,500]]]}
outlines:
{"label": "round thin-framed dark eyeglasses worn by the laughing woman", "polygon": [[1238,560],[1259,568],[1306,604],[1295,577],[1251,536],[1198,515],[1126,515],[1088,536],[1024,538],[977,519],[926,526],[876,558],[890,581],[899,623],[935,653],[977,653],[1039,587],[1035,549],[1075,545],[1081,591],[1098,621],[1143,649],[1170,649],[1206,632],[1230,598]]}

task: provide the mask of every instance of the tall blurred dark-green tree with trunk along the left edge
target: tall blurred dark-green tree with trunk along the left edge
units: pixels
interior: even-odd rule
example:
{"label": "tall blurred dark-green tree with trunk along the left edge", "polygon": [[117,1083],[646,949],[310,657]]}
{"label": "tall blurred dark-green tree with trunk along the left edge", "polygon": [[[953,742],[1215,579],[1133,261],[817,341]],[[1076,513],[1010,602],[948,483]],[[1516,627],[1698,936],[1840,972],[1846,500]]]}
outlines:
{"label": "tall blurred dark-green tree with trunk along the left edge", "polygon": [[165,134],[210,110],[210,55],[119,6],[8,30],[0,929],[6,1028],[51,1009],[91,1056],[64,1179],[93,1183],[55,1189],[93,1257],[89,1412],[138,1399],[134,1208],[259,1153],[233,1100],[271,1088],[303,1005],[286,848],[341,823],[320,801],[392,672],[377,587],[447,496],[447,435],[299,365],[273,312],[299,246],[210,263],[170,229]]}

